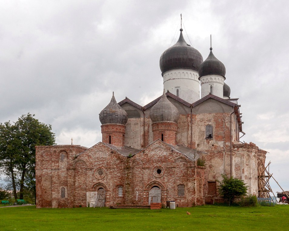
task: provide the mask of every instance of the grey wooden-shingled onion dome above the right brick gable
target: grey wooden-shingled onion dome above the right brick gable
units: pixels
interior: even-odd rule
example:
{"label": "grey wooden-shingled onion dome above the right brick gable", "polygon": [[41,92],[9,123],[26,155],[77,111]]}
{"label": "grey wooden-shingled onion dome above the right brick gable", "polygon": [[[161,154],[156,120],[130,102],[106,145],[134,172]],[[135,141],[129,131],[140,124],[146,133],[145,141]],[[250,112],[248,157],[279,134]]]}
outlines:
{"label": "grey wooden-shingled onion dome above the right brick gable", "polygon": [[154,104],[150,111],[150,117],[153,123],[162,121],[177,123],[179,116],[178,109],[168,100],[165,93],[163,93],[161,99]]}

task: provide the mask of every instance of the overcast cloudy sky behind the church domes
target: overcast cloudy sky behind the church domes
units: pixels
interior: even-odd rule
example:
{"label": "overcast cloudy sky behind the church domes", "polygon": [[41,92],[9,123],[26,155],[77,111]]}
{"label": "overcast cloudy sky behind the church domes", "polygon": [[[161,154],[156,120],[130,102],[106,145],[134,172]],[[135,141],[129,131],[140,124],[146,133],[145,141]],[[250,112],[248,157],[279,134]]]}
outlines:
{"label": "overcast cloudy sky behind the church domes", "polygon": [[0,122],[30,112],[52,125],[57,144],[72,137],[91,147],[112,91],[142,106],[161,95],[159,58],[179,35],[182,13],[184,38],[204,59],[212,34],[241,104],[241,141],[269,152],[270,172],[289,190],[287,1],[0,3]]}

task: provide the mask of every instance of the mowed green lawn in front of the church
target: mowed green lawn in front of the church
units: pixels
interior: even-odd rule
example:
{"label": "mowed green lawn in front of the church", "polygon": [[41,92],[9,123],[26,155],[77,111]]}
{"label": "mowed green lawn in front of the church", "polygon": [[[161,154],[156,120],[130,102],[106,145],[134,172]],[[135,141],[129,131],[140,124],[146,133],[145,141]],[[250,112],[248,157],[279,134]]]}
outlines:
{"label": "mowed green lawn in front of the church", "polygon": [[[186,212],[191,215],[187,215]],[[0,208],[0,230],[288,230],[289,205],[171,209]]]}

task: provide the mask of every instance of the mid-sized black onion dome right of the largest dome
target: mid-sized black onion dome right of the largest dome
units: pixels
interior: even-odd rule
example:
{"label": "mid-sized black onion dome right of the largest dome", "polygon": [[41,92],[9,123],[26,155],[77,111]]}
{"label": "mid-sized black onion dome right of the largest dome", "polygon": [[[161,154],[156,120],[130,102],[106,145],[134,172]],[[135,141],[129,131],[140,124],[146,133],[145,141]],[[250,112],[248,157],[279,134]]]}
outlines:
{"label": "mid-sized black onion dome right of the largest dome", "polygon": [[214,56],[212,49],[213,48],[210,48],[211,51],[208,58],[199,68],[199,79],[205,75],[221,75],[225,78],[226,68],[224,64]]}

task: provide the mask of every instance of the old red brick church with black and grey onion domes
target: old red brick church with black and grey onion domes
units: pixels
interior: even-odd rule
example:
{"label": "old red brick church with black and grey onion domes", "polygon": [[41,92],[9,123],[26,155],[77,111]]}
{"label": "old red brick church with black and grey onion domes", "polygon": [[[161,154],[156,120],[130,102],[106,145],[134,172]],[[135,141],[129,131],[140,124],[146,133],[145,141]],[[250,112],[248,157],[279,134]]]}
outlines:
{"label": "old red brick church with black and grey onion domes", "polygon": [[203,205],[218,196],[222,174],[258,195],[266,151],[239,141],[241,106],[212,48],[203,61],[180,29],[160,68],[164,93],[149,104],[112,95],[99,114],[101,142],[36,147],[37,208]]}

